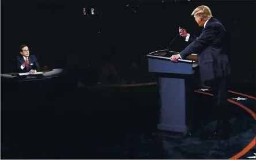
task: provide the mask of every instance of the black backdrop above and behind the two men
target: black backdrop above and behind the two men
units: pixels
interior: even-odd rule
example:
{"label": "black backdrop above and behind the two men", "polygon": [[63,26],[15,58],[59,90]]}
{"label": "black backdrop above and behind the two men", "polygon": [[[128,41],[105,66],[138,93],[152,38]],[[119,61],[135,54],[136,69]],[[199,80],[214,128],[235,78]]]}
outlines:
{"label": "black backdrop above and behind the two men", "polygon": [[[228,32],[234,77],[253,83],[255,1],[1,1],[1,73],[12,71],[21,44],[40,66],[60,68],[73,52],[95,66],[110,59],[120,70],[130,62],[146,68],[145,55],[167,48],[179,26],[199,35],[202,28],[190,16],[199,5],[209,6]],[[186,45],[178,36],[171,50]]]}

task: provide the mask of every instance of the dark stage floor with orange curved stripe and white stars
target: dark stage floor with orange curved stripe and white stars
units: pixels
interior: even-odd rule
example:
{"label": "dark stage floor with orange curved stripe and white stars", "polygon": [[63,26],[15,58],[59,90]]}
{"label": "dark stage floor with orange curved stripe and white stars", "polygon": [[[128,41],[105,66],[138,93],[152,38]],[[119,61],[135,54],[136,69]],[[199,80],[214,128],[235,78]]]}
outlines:
{"label": "dark stage floor with orange curved stripe and white stars", "polygon": [[[216,121],[209,112],[210,88],[202,86],[195,93],[202,108],[200,135]],[[231,137],[219,141],[197,135],[181,139],[157,136],[157,84],[80,89],[64,100],[59,97],[35,102],[26,111],[5,111],[1,158],[248,159],[256,153],[256,98],[246,92],[229,90]]]}

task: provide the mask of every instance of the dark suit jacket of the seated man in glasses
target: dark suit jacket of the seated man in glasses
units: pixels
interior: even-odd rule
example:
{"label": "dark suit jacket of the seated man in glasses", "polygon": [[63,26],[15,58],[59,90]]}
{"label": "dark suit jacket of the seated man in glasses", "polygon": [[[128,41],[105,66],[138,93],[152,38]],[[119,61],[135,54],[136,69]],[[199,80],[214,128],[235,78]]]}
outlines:
{"label": "dark suit jacket of the seated man in glasses", "polygon": [[35,55],[29,55],[28,56],[28,61],[29,61],[29,67],[25,67],[23,68],[23,70],[21,70],[21,65],[25,62],[23,56],[17,56],[16,58],[16,66],[17,66],[17,71],[18,72],[23,72],[26,73],[30,70],[36,70],[36,71],[40,71],[40,67],[39,64],[37,62],[36,56]]}

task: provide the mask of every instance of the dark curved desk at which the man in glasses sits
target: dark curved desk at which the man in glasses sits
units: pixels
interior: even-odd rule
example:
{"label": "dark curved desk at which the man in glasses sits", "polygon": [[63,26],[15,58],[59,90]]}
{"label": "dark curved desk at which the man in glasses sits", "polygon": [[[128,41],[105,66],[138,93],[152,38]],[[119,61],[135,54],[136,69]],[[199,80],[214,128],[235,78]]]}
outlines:
{"label": "dark curved desk at which the man in glasses sits", "polygon": [[63,73],[62,68],[42,72],[43,74],[35,74],[35,76],[33,74],[13,76],[17,73],[1,74],[1,92],[4,93],[2,96],[5,106],[17,108],[22,102],[32,105],[38,103],[39,97],[50,100],[66,89],[60,76]]}

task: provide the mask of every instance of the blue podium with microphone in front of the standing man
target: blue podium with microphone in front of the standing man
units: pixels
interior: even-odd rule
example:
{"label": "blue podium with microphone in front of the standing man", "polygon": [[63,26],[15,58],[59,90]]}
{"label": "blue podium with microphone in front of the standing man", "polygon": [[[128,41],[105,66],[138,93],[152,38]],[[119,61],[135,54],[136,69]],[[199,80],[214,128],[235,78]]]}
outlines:
{"label": "blue podium with microphone in front of the standing man", "polygon": [[189,131],[193,94],[194,68],[197,54],[178,63],[171,62],[172,55],[179,52],[155,51],[147,56],[148,71],[159,77],[160,119],[157,129],[168,136],[184,136]]}

